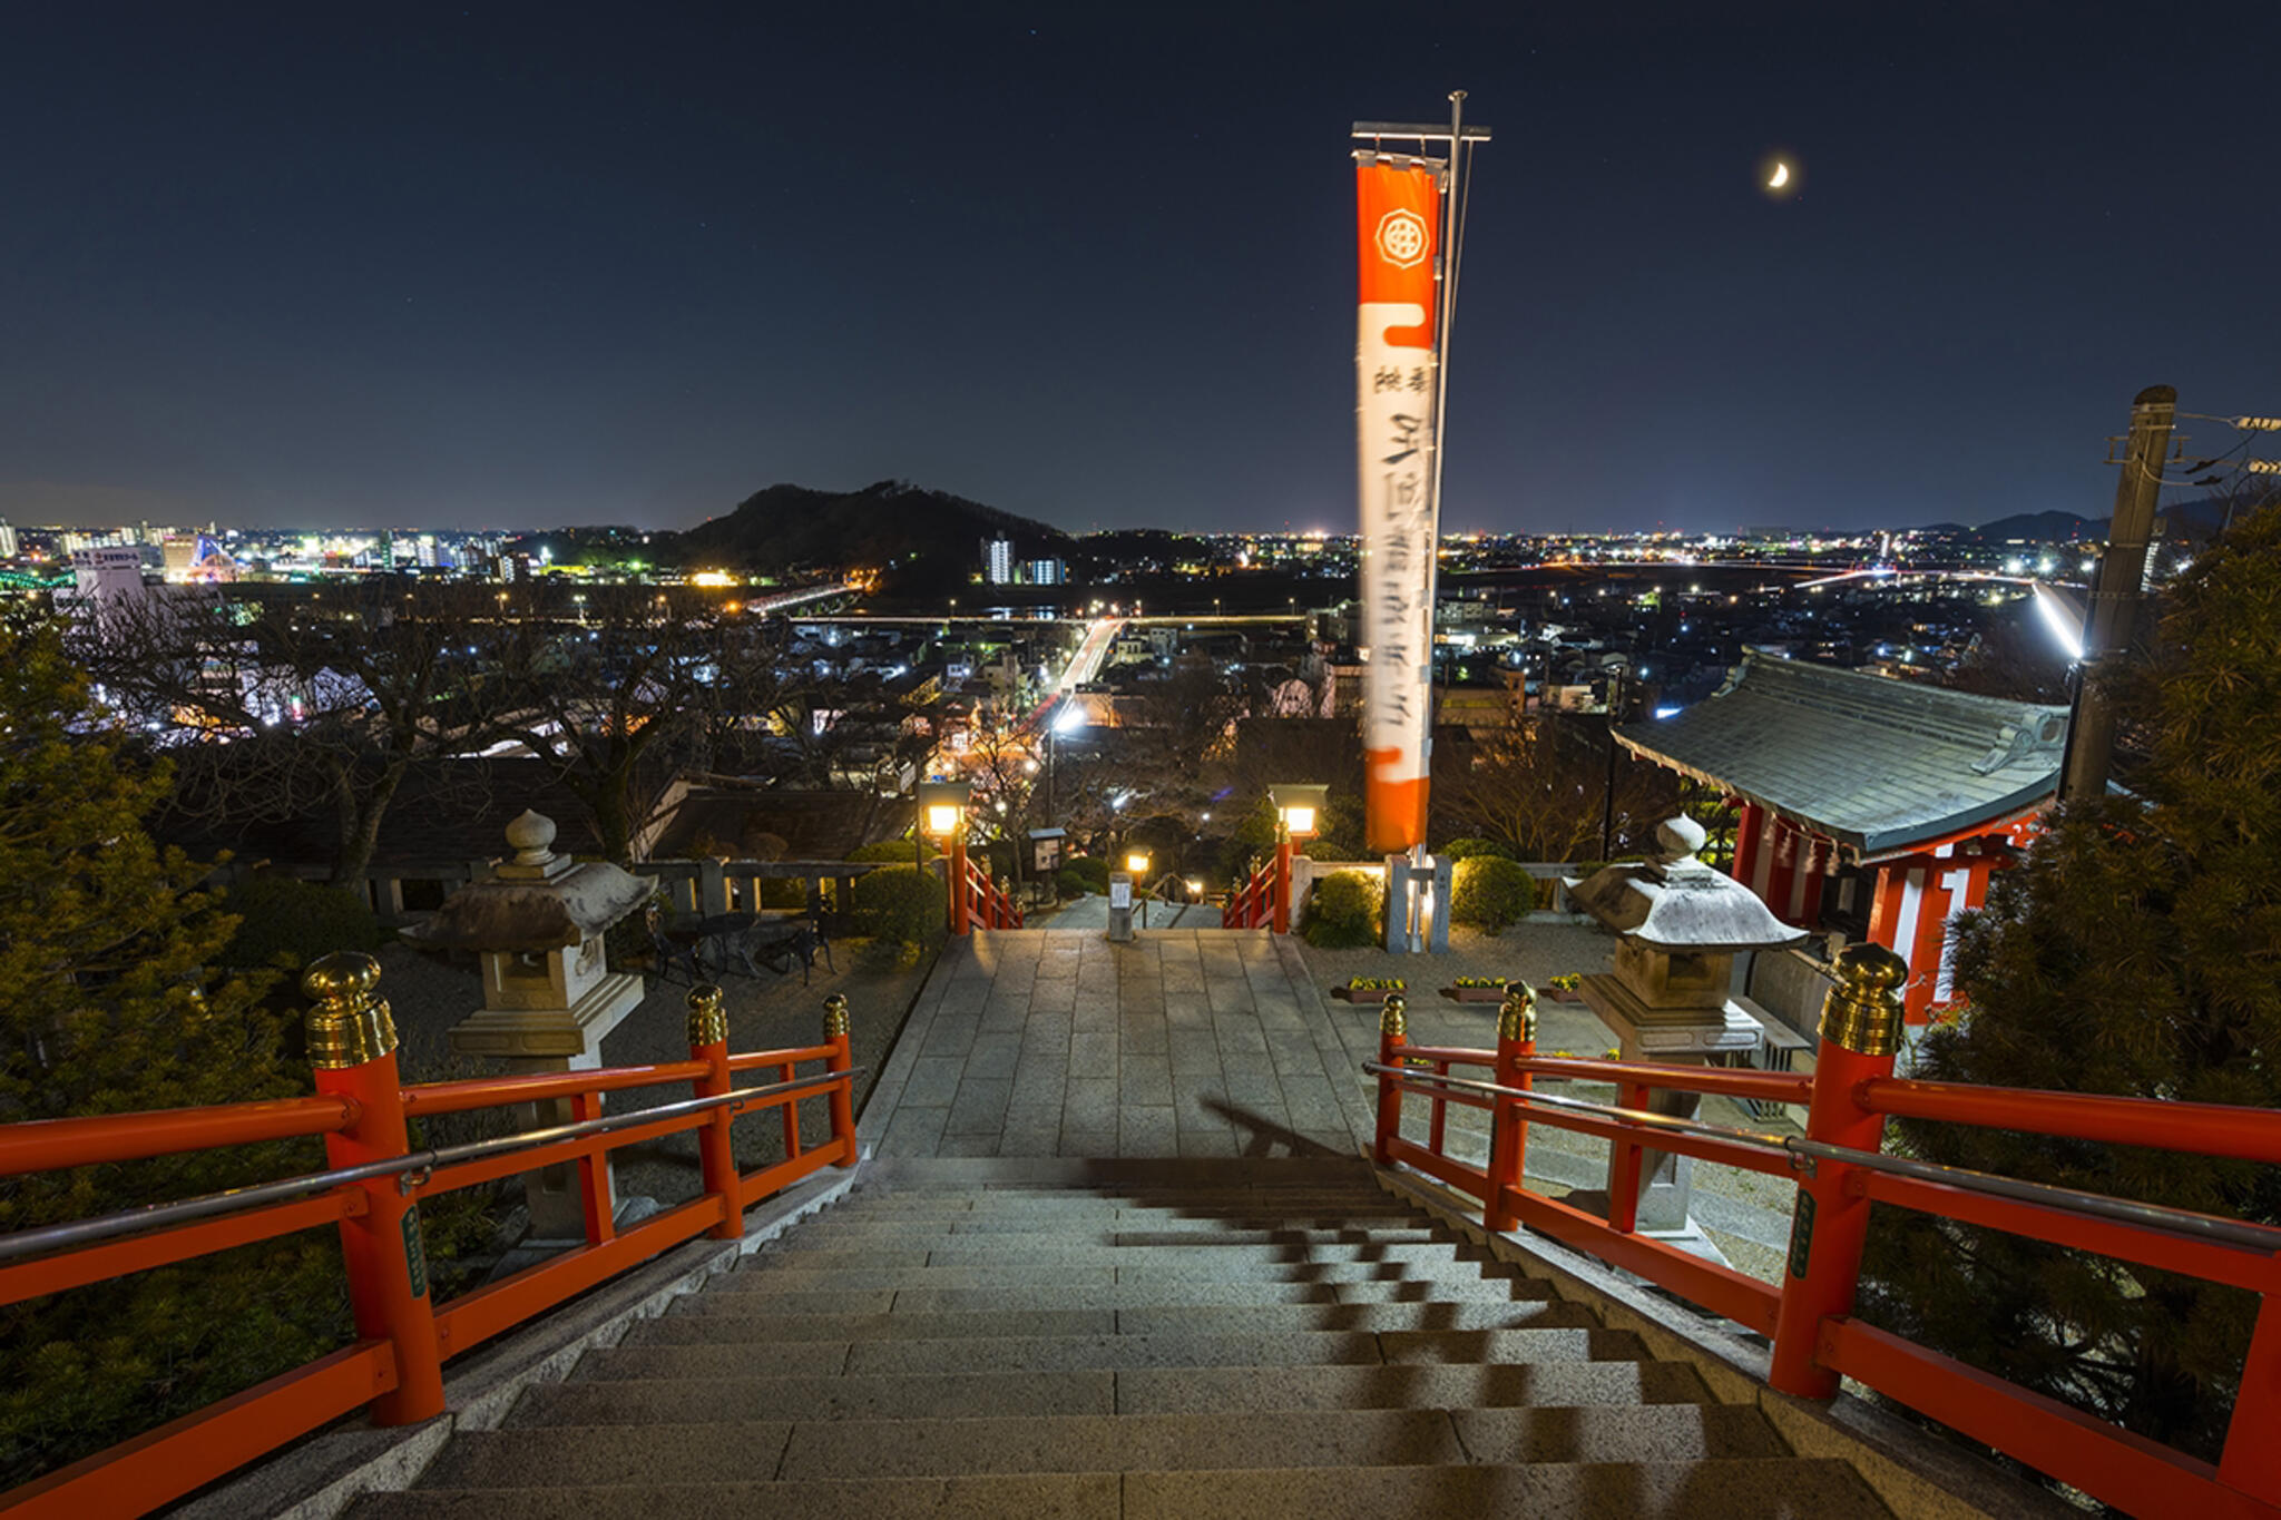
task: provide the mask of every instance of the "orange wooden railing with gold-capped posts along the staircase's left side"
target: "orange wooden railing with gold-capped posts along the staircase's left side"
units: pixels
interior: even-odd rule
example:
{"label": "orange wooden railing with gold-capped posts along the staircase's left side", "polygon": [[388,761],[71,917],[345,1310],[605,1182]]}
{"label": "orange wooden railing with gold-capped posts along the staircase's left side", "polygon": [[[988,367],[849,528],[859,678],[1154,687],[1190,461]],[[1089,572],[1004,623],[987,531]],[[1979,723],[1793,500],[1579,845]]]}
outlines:
{"label": "orange wooden railing with gold-capped posts along the staircase's left side", "polygon": [[[401,1085],[395,1028],[388,1005],[374,996],[376,980],[379,966],[365,955],[335,955],[310,969],[306,984],[322,998],[310,1012],[317,1096],[0,1126],[0,1176],[308,1135],[324,1137],[331,1169],[383,1162],[381,1176],[285,1203],[0,1265],[0,1304],[18,1304],[331,1224],[340,1228],[358,1335],[342,1351],[5,1493],[0,1509],[25,1520],[135,1515],[365,1406],[376,1424],[440,1415],[447,1358],[684,1240],[737,1240],[744,1233],[744,1210],[753,1203],[823,1167],[853,1167],[858,1160],[853,1062],[846,1000],[839,996],[826,998],[823,1041],[814,1046],[732,1055],[721,989],[696,987],[689,994],[684,1062]],[[766,1071],[778,1082],[792,1082],[798,1067],[821,1067],[803,1078],[807,1085],[801,1092],[760,1092],[703,1112],[433,1169],[417,1169],[420,1153],[413,1153],[406,1137],[406,1121],[429,1114],[568,1101],[573,1121],[582,1121],[600,1117],[607,1092],[689,1082],[698,1098],[716,1098],[732,1092],[732,1076],[739,1071]],[[828,1101],[830,1133],[812,1139],[801,1133],[798,1103],[819,1096]],[[737,1110],[769,1108],[782,1112],[785,1160],[737,1171],[730,1123]],[[607,1151],[680,1130],[700,1133],[703,1192],[618,1233],[609,1210]],[[404,1164],[385,1167],[392,1158]],[[586,1242],[447,1304],[433,1304],[420,1244],[420,1199],[561,1162],[573,1162],[579,1171]]]}

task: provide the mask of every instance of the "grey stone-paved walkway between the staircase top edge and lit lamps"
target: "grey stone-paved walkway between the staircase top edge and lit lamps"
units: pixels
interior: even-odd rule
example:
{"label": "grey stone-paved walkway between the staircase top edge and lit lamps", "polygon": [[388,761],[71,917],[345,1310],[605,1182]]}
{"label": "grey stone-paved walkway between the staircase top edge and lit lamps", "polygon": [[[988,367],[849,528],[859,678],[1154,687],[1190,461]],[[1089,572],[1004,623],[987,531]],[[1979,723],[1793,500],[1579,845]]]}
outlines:
{"label": "grey stone-paved walkway between the staircase top edge and lit lamps", "polygon": [[880,1155],[1353,1155],[1375,1030],[1266,930],[979,932],[935,964],[860,1133]]}

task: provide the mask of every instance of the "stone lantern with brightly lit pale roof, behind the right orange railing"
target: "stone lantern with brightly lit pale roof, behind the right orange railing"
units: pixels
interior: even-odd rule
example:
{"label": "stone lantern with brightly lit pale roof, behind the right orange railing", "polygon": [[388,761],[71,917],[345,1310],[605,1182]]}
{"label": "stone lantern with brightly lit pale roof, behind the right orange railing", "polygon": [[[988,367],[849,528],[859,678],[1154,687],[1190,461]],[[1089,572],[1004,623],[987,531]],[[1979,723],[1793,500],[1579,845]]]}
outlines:
{"label": "stone lantern with brightly lit pale roof, behind the right orange railing", "polygon": [[[1656,827],[1654,861],[1608,866],[1569,882],[1569,898],[1615,930],[1615,971],[1583,978],[1583,998],[1615,1035],[1622,1060],[1699,1062],[1750,1053],[1759,1021],[1729,996],[1738,950],[1793,946],[1804,932],[1775,918],[1747,886],[1695,859],[1704,830],[1693,818]],[[1693,1119],[1699,1098],[1654,1092],[1658,1114]],[[1642,1231],[1695,1233],[1688,1219],[1693,1162],[1649,1153],[1640,1169]],[[1713,1253],[1708,1242],[1702,1251]]]}

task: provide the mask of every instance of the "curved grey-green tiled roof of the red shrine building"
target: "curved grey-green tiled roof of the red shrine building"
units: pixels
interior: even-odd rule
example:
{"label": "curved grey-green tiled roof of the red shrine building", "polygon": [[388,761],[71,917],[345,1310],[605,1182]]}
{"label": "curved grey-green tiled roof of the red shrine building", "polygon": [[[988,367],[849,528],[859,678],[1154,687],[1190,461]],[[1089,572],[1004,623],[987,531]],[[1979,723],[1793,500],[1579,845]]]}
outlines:
{"label": "curved grey-green tiled roof of the red shrine building", "polygon": [[1635,754],[1877,857],[2048,798],[2067,709],[1750,649],[1718,695],[1615,736]]}

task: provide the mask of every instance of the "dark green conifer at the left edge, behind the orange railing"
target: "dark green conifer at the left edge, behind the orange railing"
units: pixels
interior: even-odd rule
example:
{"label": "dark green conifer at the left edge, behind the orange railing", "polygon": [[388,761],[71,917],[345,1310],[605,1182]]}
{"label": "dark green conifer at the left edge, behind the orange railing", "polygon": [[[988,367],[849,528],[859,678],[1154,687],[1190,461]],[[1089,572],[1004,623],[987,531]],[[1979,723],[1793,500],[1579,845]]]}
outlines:
{"label": "dark green conifer at the left edge, behind the orange railing", "polygon": [[[308,1092],[262,975],[219,978],[237,921],[144,816],[137,766],[52,622],[0,624],[0,1121]],[[0,1231],[322,1167],[315,1142],[0,1178]],[[0,1308],[0,1486],[322,1356],[338,1247],[292,1235]]]}

